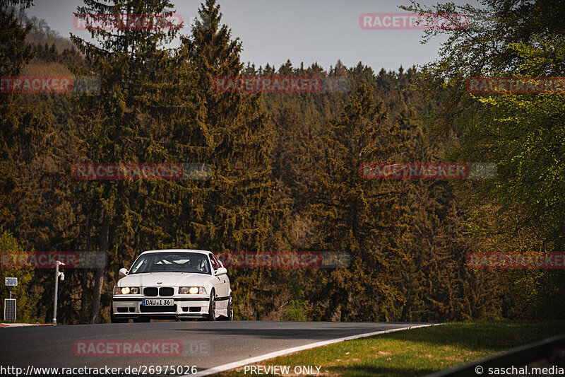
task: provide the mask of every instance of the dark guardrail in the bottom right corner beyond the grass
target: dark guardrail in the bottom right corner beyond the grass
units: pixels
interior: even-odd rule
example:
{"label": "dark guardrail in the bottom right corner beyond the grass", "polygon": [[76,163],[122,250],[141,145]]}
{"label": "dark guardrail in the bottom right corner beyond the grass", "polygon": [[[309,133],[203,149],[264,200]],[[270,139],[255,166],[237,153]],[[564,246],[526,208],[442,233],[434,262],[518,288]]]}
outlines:
{"label": "dark guardrail in the bottom right corner beyond the grass", "polygon": [[565,335],[525,344],[470,364],[428,374],[426,377],[489,376],[489,368],[520,368],[537,361],[547,361],[549,366],[565,367]]}

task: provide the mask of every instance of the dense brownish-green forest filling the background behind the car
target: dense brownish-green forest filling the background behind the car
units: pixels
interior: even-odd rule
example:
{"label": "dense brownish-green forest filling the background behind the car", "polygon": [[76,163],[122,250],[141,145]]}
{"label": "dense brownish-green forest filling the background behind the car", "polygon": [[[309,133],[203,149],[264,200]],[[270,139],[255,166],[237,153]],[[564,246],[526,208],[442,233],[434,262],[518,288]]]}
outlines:
{"label": "dense brownish-green forest filling the background behind the car", "polygon": [[[109,321],[143,250],[348,253],[335,269],[230,269],[239,320],[563,318],[561,269],[470,269],[468,253],[563,252],[564,93],[472,95],[470,76],[565,76],[565,4],[486,0],[436,62],[375,71],[241,61],[215,0],[191,34],[92,30],[93,44],[0,8],[0,76],[93,76],[100,92],[0,93],[0,251],[97,251],[66,269],[59,323]],[[174,13],[169,0],[77,13]],[[180,37],[178,48],[169,42]],[[218,93],[223,76],[346,79],[349,91]],[[372,161],[496,163],[494,179],[364,180]],[[206,163],[207,180],[76,180],[76,163]],[[49,322],[52,269],[18,277],[18,320]],[[3,289],[0,298],[8,296]]]}

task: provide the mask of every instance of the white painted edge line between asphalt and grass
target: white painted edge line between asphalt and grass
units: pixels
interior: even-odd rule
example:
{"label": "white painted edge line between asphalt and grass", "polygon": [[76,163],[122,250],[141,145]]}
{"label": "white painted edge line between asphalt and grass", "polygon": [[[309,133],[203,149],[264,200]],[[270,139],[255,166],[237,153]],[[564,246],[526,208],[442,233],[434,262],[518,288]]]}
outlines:
{"label": "white painted edge line between asphalt and grass", "polygon": [[187,374],[187,375],[184,375],[182,377],[211,376],[215,373],[221,373],[221,372],[225,372],[225,371],[230,371],[231,369],[236,369],[239,366],[244,366],[244,365],[247,365],[247,364],[254,364],[254,363],[257,363],[258,361],[263,361],[263,360],[267,360],[267,359],[274,359],[275,357],[285,356],[287,354],[294,354],[295,352],[304,351],[306,349],[312,349],[312,348],[316,348],[316,347],[327,346],[329,344],[346,342],[347,340],[355,340],[355,339],[360,339],[360,338],[363,338],[363,337],[372,337],[374,335],[386,334],[388,332],[410,330],[410,329],[415,329],[417,327],[429,327],[429,326],[436,326],[436,325],[443,325],[443,323],[430,323],[430,324],[425,324],[425,325],[399,327],[399,328],[390,329],[390,330],[366,332],[364,334],[351,335],[349,337],[340,337],[340,338],[336,338],[336,339],[322,340],[321,342],[314,342],[314,343],[310,343],[310,344],[304,344],[303,346],[281,349],[280,351],[269,352],[268,354],[262,354],[260,356],[250,357],[249,359],[243,359],[243,360],[239,360],[239,361],[233,361],[229,364],[214,366],[213,368],[208,368],[208,369],[204,369],[203,371],[198,371],[198,372],[196,372],[196,374],[191,374],[191,375]]}

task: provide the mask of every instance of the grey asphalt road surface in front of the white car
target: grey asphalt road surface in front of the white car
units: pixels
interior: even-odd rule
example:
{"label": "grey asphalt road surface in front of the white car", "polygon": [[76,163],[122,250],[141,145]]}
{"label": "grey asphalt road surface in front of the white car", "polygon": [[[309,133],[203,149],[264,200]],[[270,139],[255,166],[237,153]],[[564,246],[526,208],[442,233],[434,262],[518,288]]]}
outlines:
{"label": "grey asphalt road surface in front of the white car", "polygon": [[[418,325],[425,324],[194,321],[1,328],[0,366],[24,371],[28,366],[108,366],[122,371],[128,366],[162,366],[161,373],[153,375],[163,376],[165,365],[178,371],[178,366],[196,366],[203,371],[324,340]],[[133,341],[141,342],[136,346]],[[155,348],[155,341],[162,343]],[[126,343],[133,348],[124,355]],[[180,374],[191,373],[186,373],[188,370],[185,367]]]}

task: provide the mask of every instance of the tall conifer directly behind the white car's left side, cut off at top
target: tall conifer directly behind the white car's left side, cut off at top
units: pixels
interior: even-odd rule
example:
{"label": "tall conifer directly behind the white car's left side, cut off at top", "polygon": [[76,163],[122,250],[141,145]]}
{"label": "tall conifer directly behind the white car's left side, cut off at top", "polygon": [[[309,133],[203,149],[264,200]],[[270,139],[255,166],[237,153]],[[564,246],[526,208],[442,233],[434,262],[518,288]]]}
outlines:
{"label": "tall conifer directly behind the white car's left side, cut off at top", "polygon": [[[167,0],[114,0],[105,4],[85,0],[81,14],[170,16]],[[160,93],[172,91],[167,74],[172,71],[172,53],[162,50],[177,30],[120,26],[117,30],[90,30],[100,47],[76,36],[71,40],[86,55],[97,78],[100,95],[81,98],[80,114],[85,159],[90,162],[165,162],[167,151],[161,140],[168,130],[162,119]],[[85,74],[75,67],[77,74]],[[77,183],[91,221],[97,223],[98,248],[109,260],[131,260],[131,250],[153,238],[155,230],[143,220],[139,209],[149,201],[156,182],[87,181]],[[152,240],[153,241],[153,240]],[[153,243],[153,242],[152,242]],[[114,263],[111,264],[114,266]],[[110,275],[115,276],[114,274]],[[90,322],[99,321],[104,269],[97,269]]]}

